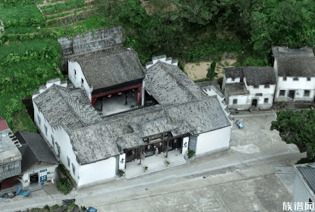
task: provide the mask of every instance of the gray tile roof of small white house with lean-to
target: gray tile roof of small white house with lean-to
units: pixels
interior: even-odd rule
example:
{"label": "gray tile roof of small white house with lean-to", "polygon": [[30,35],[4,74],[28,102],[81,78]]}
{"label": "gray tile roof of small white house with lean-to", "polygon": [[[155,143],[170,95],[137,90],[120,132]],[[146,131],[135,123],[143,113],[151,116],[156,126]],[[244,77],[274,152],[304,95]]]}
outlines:
{"label": "gray tile roof of small white house with lean-to", "polygon": [[273,67],[232,67],[223,68],[225,77],[246,77],[246,84],[251,85],[266,85],[276,84],[276,72]]}

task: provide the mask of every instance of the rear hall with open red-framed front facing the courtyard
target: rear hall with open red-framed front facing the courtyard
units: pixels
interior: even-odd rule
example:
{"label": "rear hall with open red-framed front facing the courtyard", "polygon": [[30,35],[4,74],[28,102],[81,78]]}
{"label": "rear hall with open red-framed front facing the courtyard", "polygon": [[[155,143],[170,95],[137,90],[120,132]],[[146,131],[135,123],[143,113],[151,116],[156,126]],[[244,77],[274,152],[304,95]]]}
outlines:
{"label": "rear hall with open red-framed front facing the courtyard", "polygon": [[144,104],[145,75],[138,54],[131,47],[68,59],[68,71],[74,87],[84,89],[102,115]]}

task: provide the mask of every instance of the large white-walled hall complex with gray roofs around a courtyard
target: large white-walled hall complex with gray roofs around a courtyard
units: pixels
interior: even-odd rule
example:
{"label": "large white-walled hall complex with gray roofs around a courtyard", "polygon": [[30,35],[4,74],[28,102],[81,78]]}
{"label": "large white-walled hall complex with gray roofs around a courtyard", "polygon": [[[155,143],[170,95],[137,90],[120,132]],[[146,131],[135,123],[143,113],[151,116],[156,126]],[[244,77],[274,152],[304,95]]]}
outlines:
{"label": "large white-walled hall complex with gray roofs around a courtyard", "polygon": [[[60,79],[47,81],[33,93],[36,126],[78,186],[115,179],[118,170],[127,169],[126,175],[129,176],[130,173],[136,176],[136,172],[143,174],[142,169],[135,170],[135,164],[138,167],[149,156],[161,160],[161,166],[166,167],[165,158],[172,162],[176,157],[175,165],[185,164],[184,155],[188,150],[193,150],[196,157],[229,150],[233,118],[229,116],[231,111],[227,110],[220,90],[214,85],[201,89],[177,67],[177,61],[165,62],[171,60],[166,56],[154,57],[153,64],[146,69],[140,67],[142,75],[137,71],[139,61],[123,64],[130,55],[133,55],[130,59],[136,56],[134,50],[125,48],[112,52],[110,56],[108,52],[106,56],[100,54],[102,62],[99,64],[107,64],[108,60],[121,66],[103,70],[115,75],[104,75],[104,80],[113,77],[113,81],[91,84],[92,94],[94,88],[102,89],[101,86],[109,85],[112,89],[119,89],[115,86],[143,79],[141,89],[157,101],[156,105],[102,116],[91,104],[84,86],[75,86],[74,81],[68,85]],[[98,60],[97,55],[89,57],[83,59],[83,63],[80,58],[73,62],[81,64],[80,67],[90,59],[93,61],[91,64],[98,64],[94,62]],[[124,68],[126,73],[134,73],[133,76],[121,74]]]}

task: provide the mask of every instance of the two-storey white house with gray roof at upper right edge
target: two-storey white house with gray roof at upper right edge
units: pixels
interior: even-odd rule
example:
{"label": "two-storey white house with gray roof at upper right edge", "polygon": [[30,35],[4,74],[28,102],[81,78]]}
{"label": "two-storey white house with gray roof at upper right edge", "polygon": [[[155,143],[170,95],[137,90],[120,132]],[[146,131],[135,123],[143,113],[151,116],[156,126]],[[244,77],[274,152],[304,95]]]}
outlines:
{"label": "two-storey white house with gray roof at upper right edge", "polygon": [[274,101],[313,102],[315,96],[315,57],[307,47],[272,47],[277,76]]}

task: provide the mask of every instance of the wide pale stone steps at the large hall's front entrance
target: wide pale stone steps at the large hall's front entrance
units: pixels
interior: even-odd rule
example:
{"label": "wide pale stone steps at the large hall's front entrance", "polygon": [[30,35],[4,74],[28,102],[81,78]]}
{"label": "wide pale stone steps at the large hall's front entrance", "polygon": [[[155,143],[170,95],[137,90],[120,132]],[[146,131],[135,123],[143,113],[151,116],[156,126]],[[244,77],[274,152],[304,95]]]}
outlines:
{"label": "wide pale stone steps at the large hall's front entrance", "polygon": [[147,165],[148,166],[148,170],[145,172],[144,171],[144,165],[142,167],[134,167],[132,169],[127,169],[126,171],[126,178],[130,179],[133,177],[138,177],[141,175],[145,175],[145,174],[149,174],[149,173],[154,173],[154,172],[158,172],[160,170],[164,170],[164,169],[168,169],[168,168],[172,168],[175,166],[179,166],[179,165],[183,165],[186,164],[186,160],[184,159],[184,156],[172,156],[169,157],[167,159],[170,164],[166,165],[165,160],[163,161],[158,161],[157,163],[154,164],[150,164]]}

